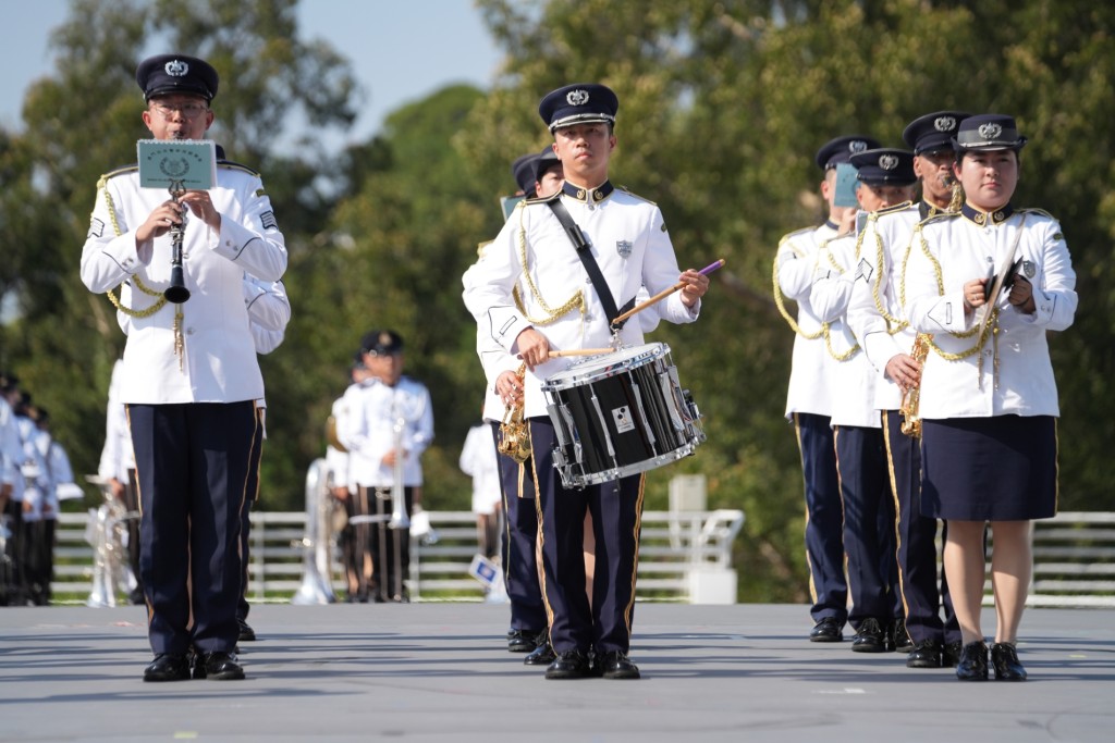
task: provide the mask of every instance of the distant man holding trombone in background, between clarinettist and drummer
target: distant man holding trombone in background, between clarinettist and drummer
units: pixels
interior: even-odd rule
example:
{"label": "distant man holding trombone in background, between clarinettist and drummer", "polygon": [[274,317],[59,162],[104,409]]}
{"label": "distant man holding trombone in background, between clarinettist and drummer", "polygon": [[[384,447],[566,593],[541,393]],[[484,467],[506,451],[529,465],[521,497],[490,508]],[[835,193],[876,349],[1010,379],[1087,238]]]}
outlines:
{"label": "distant man holding trombone in background, between clarinettist and drummer", "polygon": [[[338,436],[349,451],[349,485],[374,512],[369,535],[375,602],[409,600],[410,517],[421,510],[421,454],[434,440],[426,385],[403,375],[403,338],[376,330],[360,342],[368,375],[349,399]],[[404,502],[398,502],[398,498]],[[394,517],[392,517],[394,515]],[[397,518],[395,518],[397,517]]]}

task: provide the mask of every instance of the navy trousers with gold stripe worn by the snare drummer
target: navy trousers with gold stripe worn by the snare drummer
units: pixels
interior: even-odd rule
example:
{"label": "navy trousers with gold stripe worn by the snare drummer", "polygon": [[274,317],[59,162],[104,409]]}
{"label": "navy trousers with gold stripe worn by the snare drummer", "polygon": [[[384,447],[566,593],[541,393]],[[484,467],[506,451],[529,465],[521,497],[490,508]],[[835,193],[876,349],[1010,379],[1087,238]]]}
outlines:
{"label": "navy trousers with gold stripe worn by the snare drummer", "polygon": [[[642,527],[643,476],[566,489],[553,466],[555,444],[549,418],[530,418],[542,530],[542,595],[556,653],[598,653],[631,647],[636,569]],[[584,515],[592,514],[597,566],[592,606],[585,594]]]}

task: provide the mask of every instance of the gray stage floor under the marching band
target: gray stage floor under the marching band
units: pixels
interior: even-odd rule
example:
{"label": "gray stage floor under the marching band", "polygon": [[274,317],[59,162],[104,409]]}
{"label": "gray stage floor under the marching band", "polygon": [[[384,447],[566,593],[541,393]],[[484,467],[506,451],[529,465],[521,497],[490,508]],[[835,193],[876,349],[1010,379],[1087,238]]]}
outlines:
{"label": "gray stage floor under the marching band", "polygon": [[[803,606],[639,604],[641,681],[546,681],[505,606],[256,606],[243,682],[145,684],[137,607],[0,609],[0,741],[1111,741],[1115,612],[1030,609],[1021,684],[811,644]],[[993,627],[987,609],[985,628]]]}

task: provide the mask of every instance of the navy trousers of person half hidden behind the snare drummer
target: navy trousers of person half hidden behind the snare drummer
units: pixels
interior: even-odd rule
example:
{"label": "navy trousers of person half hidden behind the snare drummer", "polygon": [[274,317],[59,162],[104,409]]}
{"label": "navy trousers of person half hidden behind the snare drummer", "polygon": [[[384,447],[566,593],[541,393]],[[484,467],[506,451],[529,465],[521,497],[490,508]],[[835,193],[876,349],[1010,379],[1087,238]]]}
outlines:
{"label": "navy trousers of person half hidden behind the snare drummer", "polygon": [[[496,450],[500,424],[492,423]],[[534,545],[539,537],[539,514],[534,505],[534,470],[530,460],[520,465],[498,454],[500,489],[503,491],[504,535],[501,545],[503,583],[511,604],[511,628],[541,633],[549,624],[539,585],[539,561]]]}

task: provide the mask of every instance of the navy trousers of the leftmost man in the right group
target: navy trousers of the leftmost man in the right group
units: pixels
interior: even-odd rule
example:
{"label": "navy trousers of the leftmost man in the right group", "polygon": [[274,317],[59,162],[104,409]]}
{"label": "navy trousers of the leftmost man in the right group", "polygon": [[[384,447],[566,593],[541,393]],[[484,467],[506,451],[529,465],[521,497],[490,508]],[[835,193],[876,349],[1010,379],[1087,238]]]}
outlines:
{"label": "navy trousers of the leftmost man in the right group", "polygon": [[814,622],[847,622],[844,577],[844,511],[836,476],[836,447],[827,416],[794,413],[805,477],[805,555],[809,564],[809,613]]}

